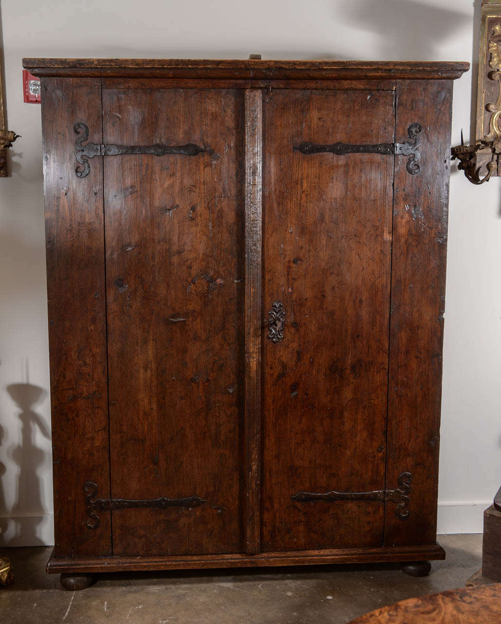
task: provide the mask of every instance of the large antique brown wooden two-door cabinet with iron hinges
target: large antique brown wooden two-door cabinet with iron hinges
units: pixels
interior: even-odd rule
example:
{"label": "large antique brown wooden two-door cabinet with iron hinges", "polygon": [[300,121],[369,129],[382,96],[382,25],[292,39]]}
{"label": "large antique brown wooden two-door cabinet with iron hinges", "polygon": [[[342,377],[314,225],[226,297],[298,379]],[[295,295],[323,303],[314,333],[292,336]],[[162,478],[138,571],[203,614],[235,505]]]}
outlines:
{"label": "large antique brown wooden two-door cabinet with iron hinges", "polygon": [[291,563],[426,573],[444,557],[451,97],[467,64],[24,66],[42,79],[49,572],[65,587]]}

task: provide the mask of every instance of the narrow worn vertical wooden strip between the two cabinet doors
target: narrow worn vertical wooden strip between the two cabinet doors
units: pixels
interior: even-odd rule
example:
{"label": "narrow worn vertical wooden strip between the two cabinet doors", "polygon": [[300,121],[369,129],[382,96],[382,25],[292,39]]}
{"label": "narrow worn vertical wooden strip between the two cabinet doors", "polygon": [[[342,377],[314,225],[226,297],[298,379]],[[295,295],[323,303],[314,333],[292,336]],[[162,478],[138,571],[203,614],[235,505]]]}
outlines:
{"label": "narrow worn vertical wooden strip between the two cabinet doors", "polygon": [[262,92],[246,90],[246,552],[259,552],[261,412]]}

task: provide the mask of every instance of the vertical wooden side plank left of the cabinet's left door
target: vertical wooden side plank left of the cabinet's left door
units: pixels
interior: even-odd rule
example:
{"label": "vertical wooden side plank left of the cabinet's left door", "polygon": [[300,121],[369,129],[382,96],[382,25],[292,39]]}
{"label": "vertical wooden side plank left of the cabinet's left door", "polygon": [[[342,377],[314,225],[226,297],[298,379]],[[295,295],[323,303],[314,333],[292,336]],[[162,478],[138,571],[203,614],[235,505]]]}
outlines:
{"label": "vertical wooden side plank left of the cabinet's left door", "polygon": [[110,514],[85,526],[84,483],[108,497],[103,170],[75,175],[73,126],[102,142],[101,81],[42,78],[55,557],[111,553]]}

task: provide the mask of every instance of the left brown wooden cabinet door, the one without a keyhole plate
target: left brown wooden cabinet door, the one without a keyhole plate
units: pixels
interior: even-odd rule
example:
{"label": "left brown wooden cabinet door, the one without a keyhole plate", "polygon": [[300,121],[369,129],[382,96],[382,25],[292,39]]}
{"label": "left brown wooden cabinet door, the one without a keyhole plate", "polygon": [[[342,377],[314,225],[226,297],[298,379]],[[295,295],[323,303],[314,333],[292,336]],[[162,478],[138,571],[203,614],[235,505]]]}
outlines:
{"label": "left brown wooden cabinet door, the one without a keyhole plate", "polygon": [[104,89],[105,144],[190,157],[104,158],[114,555],[241,552],[244,96]]}

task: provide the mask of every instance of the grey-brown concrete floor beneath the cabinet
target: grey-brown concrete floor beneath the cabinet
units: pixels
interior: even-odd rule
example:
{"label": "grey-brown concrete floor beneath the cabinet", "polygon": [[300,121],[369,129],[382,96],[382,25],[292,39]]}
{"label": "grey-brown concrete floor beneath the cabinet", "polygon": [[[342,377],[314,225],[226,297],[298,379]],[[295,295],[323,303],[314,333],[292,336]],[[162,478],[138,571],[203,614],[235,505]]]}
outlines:
{"label": "grey-brown concrete floor beneath the cabinet", "polygon": [[445,561],[413,578],[393,564],[124,573],[81,592],[45,575],[51,548],[4,548],[16,580],[0,587],[2,624],[341,624],[398,600],[464,583],[482,563],[482,535],[442,535]]}

